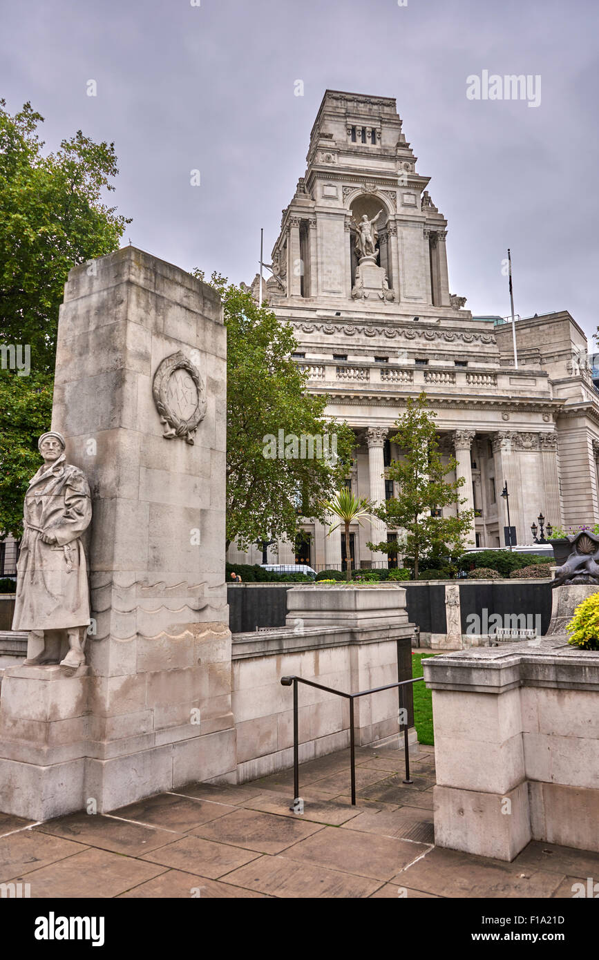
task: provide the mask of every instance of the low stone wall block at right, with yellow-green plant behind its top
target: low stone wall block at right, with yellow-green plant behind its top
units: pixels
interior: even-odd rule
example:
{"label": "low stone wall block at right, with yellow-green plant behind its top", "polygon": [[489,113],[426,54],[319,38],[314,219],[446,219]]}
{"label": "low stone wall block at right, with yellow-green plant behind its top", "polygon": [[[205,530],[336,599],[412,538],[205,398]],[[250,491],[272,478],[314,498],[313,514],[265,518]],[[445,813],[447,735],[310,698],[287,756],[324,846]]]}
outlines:
{"label": "low stone wall block at right, with yellow-green plant behind its top", "polygon": [[435,843],[502,860],[530,840],[599,852],[599,653],[552,636],[423,663]]}

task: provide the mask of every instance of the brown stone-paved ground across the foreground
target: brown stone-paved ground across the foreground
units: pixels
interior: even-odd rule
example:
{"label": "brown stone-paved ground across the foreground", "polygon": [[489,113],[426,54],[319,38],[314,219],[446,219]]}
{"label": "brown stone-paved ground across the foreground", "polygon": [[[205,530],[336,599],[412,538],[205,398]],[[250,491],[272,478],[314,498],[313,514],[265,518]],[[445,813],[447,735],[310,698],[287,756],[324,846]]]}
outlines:
{"label": "brown stone-paved ground across the foreground", "polygon": [[[513,863],[435,848],[432,747],[402,784],[402,752],[358,748],[242,786],[191,784],[108,815],[44,824],[0,813],[0,882],[32,898],[571,898],[599,855],[532,843]],[[398,771],[398,772],[396,772]]]}

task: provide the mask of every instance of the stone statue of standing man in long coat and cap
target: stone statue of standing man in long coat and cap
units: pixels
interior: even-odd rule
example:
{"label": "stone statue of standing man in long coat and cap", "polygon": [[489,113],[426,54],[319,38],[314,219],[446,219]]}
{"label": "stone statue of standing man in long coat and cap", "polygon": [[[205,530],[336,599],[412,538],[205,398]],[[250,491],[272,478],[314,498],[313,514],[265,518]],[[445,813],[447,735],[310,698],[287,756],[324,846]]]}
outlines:
{"label": "stone statue of standing man in long coat and cap", "polygon": [[[74,670],[85,663],[90,622],[81,538],[91,522],[91,497],[84,471],[66,463],[60,433],[42,434],[37,447],[44,463],[25,494],[12,630],[27,630],[43,645],[25,666],[60,662]],[[68,652],[60,660],[64,640]]]}

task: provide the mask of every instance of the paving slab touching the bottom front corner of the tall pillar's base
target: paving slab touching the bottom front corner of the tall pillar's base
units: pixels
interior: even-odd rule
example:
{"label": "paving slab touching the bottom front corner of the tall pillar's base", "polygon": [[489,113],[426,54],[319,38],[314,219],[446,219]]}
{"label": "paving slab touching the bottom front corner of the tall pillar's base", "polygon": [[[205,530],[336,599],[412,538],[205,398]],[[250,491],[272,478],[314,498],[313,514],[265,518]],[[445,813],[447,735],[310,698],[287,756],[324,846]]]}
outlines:
{"label": "paving slab touching the bottom front corner of the tall pillar's base", "polygon": [[76,840],[89,847],[126,853],[128,856],[139,856],[140,853],[163,847],[167,843],[173,843],[179,836],[168,830],[125,823],[101,813],[92,816],[84,812],[47,820],[34,828],[34,832],[51,833],[64,840]]}

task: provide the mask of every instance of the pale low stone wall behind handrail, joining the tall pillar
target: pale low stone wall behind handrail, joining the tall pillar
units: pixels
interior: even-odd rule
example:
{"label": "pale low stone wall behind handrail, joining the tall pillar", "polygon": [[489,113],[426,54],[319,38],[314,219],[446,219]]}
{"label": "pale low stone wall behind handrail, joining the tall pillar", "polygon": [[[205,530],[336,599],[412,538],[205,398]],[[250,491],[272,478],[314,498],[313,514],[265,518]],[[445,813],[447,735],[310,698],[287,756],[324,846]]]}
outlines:
{"label": "pale low stone wall behind handrail, joining the tall pillar", "polygon": [[[238,634],[232,643],[232,709],[237,729],[239,782],[293,765],[293,689],[281,677],[297,675],[345,692],[412,677],[412,629],[293,628]],[[397,677],[399,657],[399,678]],[[299,760],[349,745],[345,698],[299,684]],[[405,699],[413,727],[411,688]],[[356,743],[383,740],[399,730],[397,690],[355,701]],[[415,741],[413,732],[411,740]]]}

